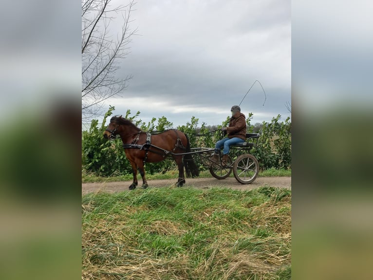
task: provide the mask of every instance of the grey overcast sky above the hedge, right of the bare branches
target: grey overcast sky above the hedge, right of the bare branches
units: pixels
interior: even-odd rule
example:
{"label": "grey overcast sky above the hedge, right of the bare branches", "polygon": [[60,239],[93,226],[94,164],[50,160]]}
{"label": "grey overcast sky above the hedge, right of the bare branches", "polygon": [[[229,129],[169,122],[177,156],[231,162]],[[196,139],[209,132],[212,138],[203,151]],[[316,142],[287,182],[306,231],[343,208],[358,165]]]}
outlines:
{"label": "grey overcast sky above the hedge, right of the bare branches", "polygon": [[[121,0],[116,1],[123,3]],[[241,104],[252,123],[290,115],[290,0],[139,0],[132,12],[131,53],[119,77],[132,75],[122,97],[106,101],[115,114],[140,111],[177,125],[192,116],[221,124]],[[112,23],[120,25],[120,22]]]}

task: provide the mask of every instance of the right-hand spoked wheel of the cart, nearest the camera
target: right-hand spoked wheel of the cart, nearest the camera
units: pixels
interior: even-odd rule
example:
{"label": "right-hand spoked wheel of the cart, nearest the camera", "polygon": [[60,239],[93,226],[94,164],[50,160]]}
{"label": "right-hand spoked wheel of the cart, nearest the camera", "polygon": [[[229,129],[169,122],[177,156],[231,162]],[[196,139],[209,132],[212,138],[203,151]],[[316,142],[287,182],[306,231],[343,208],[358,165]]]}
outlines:
{"label": "right-hand spoked wheel of the cart, nearest the camera", "polygon": [[233,164],[234,177],[242,184],[252,183],[257,179],[258,173],[259,162],[253,155],[241,155]]}

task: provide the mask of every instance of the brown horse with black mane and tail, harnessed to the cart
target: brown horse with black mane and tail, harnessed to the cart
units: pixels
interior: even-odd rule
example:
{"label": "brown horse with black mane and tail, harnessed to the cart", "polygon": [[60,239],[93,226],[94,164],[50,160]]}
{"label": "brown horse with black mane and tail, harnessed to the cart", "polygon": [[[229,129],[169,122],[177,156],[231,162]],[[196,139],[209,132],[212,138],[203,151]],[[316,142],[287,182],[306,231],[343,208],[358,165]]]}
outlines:
{"label": "brown horse with black mane and tail, harnessed to the cart", "polygon": [[[145,177],[144,164],[146,162],[159,162],[171,156],[179,169],[178,187],[185,184],[184,167],[186,177],[199,176],[199,170],[190,153],[190,142],[186,134],[176,129],[165,130],[159,134],[144,132],[136,127],[131,120],[114,116],[104,131],[104,138],[114,139],[119,135],[123,142],[127,159],[131,163],[133,182],[129,189],[136,188],[137,169],[143,179],[141,188],[146,189],[148,182]],[[184,156],[184,163],[183,163]]]}

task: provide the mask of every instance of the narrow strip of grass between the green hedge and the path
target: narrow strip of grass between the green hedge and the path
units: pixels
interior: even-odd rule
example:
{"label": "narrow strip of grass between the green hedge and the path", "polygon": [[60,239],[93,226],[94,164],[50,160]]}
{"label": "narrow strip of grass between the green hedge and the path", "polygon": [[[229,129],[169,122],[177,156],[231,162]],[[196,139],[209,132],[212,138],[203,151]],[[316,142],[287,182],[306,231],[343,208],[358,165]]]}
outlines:
{"label": "narrow strip of grass between the green hedge and the path", "polygon": [[[165,173],[156,173],[156,174],[146,174],[147,180],[163,180],[163,179],[175,179],[179,175],[177,170],[170,170]],[[261,177],[282,177],[282,176],[291,176],[291,169],[275,169],[270,168],[259,172]],[[138,174],[138,179],[141,177]],[[208,170],[200,172],[201,178],[212,177]],[[233,177],[233,172],[230,175]],[[89,174],[86,171],[82,172],[82,183],[92,183],[92,182],[117,182],[117,181],[131,181],[131,175],[121,175],[121,176],[111,176],[111,177],[100,177],[94,174]]]}

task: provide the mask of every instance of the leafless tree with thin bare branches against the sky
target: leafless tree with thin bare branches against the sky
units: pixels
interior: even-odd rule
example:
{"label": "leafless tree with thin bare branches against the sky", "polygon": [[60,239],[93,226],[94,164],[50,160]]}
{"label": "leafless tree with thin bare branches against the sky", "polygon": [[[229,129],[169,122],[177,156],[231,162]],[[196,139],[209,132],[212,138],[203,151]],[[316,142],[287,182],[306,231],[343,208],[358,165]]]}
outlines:
{"label": "leafless tree with thin bare branches against the sky", "polygon": [[[112,7],[112,0],[82,0],[82,119],[97,116],[102,102],[123,92],[132,78],[118,79],[115,72],[137,32],[129,26],[134,4]],[[113,38],[109,25],[118,17],[123,23]]]}

